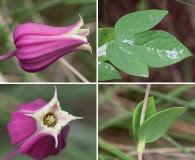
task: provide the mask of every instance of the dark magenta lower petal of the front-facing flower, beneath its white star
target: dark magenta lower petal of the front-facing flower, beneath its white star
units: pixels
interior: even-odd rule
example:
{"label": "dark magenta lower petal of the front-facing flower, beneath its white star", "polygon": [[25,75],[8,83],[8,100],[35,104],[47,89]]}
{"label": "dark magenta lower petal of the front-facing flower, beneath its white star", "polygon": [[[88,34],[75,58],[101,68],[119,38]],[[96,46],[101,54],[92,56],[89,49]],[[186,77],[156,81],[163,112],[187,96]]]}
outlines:
{"label": "dark magenta lower petal of the front-facing flower, beneath its white star", "polygon": [[39,134],[28,142],[19,147],[19,152],[22,154],[28,154],[32,158],[42,160],[49,155],[56,155],[66,145],[66,138],[68,136],[69,126],[63,128],[58,135],[58,147],[55,148],[54,137],[48,134]]}

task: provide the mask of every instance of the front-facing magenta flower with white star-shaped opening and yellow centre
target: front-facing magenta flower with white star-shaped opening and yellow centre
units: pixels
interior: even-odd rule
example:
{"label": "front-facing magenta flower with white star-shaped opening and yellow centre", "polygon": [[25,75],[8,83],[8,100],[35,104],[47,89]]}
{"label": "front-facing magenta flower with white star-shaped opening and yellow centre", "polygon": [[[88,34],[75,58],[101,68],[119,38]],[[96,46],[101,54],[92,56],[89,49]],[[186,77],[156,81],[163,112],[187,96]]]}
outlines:
{"label": "front-facing magenta flower with white star-shaped opening and yellow centre", "polygon": [[58,154],[66,146],[68,124],[76,119],[81,117],[61,110],[55,90],[49,103],[37,99],[21,104],[19,110],[12,114],[7,128],[12,144],[18,146],[18,153],[41,160]]}

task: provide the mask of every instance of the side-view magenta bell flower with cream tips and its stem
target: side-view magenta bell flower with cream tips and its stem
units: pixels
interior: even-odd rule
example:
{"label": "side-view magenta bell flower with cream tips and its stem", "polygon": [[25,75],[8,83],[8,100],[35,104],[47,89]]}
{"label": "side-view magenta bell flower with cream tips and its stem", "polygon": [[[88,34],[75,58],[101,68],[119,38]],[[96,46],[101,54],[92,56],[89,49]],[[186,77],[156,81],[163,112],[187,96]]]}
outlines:
{"label": "side-view magenta bell flower with cream tips and its stem", "polygon": [[38,72],[70,52],[76,50],[92,52],[86,38],[89,29],[80,29],[83,24],[81,16],[74,25],[67,27],[22,24],[16,27],[13,33],[17,50],[0,56],[0,60],[16,55],[22,69]]}

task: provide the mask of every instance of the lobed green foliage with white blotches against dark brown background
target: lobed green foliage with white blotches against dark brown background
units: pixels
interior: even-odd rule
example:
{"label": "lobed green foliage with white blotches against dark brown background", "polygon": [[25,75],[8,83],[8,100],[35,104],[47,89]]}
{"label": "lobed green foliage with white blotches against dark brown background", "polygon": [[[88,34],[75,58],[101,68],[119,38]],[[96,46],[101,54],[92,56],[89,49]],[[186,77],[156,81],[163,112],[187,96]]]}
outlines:
{"label": "lobed green foliage with white blotches against dark brown background", "polygon": [[[99,29],[98,61],[110,61],[128,74],[148,77],[148,67],[168,66],[191,56],[190,51],[169,33],[148,31],[167,13],[163,10],[138,11],[120,18],[114,28]],[[100,81],[121,78],[106,62],[98,63],[98,76]]]}

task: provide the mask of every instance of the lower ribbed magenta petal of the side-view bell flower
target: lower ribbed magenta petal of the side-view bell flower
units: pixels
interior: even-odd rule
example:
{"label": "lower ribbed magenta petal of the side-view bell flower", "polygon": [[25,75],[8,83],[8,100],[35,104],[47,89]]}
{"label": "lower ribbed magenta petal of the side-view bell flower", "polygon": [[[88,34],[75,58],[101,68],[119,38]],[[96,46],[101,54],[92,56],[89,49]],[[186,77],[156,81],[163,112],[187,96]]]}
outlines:
{"label": "lower ribbed magenta petal of the side-view bell flower", "polygon": [[21,68],[28,72],[45,69],[57,59],[68,54],[82,44],[86,43],[77,38],[64,38],[63,41],[33,45],[18,49],[17,57]]}

